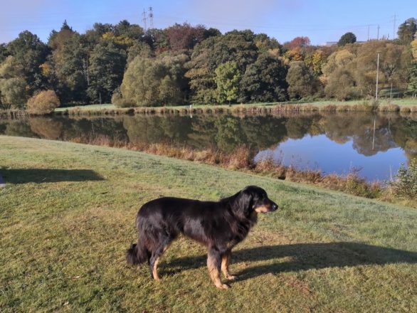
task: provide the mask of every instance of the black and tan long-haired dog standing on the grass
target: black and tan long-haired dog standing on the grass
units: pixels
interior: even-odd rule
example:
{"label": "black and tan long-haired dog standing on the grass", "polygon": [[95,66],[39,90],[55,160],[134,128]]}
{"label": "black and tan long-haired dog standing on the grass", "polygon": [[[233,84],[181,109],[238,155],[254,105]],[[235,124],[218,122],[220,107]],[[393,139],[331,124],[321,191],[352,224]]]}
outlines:
{"label": "black and tan long-haired dog standing on the grass", "polygon": [[231,250],[255,225],[258,213],[276,211],[278,205],[258,186],[247,186],[235,195],[218,202],[187,198],[163,197],[145,203],[136,217],[138,240],[127,250],[130,265],[147,261],[154,280],[159,258],[180,233],[206,245],[207,267],[214,285],[227,289],[221,282],[221,271],[227,280],[236,280],[228,266]]}

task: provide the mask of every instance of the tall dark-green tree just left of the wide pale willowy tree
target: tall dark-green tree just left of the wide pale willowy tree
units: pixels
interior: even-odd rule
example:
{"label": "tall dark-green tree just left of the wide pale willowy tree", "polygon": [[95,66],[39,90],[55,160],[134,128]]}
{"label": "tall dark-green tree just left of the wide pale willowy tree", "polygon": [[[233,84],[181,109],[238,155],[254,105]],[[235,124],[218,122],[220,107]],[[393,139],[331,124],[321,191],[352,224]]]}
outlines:
{"label": "tall dark-green tree just left of the wide pale willowy tree", "polygon": [[122,83],[126,52],[114,43],[102,41],[90,55],[90,85],[87,89],[91,102],[110,102],[112,92]]}

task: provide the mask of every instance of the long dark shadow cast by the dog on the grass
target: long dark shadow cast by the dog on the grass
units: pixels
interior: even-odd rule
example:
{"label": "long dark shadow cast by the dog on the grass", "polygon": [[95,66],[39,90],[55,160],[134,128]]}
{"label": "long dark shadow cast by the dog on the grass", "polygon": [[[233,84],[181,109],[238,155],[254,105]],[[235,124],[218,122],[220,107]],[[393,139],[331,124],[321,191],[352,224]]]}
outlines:
{"label": "long dark shadow cast by the dog on the grass", "polygon": [[[238,262],[267,262],[267,264],[247,265],[240,272],[233,272],[233,263]],[[231,272],[238,275],[239,280],[247,280],[269,273],[400,262],[417,263],[417,253],[363,243],[298,243],[233,251]],[[164,273],[169,275],[180,272],[181,269],[199,268],[205,265],[206,255],[178,258],[164,266]]]}

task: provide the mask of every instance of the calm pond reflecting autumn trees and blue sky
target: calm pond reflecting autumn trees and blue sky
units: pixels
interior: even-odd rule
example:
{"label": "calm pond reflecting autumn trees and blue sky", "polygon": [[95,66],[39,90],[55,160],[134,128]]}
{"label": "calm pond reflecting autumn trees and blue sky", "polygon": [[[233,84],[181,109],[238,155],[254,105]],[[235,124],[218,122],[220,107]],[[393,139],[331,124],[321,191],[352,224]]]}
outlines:
{"label": "calm pond reflecting autumn trees and blue sky", "polygon": [[359,171],[369,181],[390,179],[400,164],[417,157],[417,116],[392,113],[30,117],[0,120],[0,134],[60,140],[106,135],[225,152],[245,144],[255,161],[273,157],[326,174]]}

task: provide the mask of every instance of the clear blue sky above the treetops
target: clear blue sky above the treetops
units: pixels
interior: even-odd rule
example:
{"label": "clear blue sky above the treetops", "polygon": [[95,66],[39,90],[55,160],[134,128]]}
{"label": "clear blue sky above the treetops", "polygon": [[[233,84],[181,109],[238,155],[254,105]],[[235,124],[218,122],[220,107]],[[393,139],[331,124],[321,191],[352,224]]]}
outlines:
{"label": "clear blue sky above the treetops", "polygon": [[[187,21],[202,23],[223,33],[250,28],[267,33],[281,43],[296,36],[308,36],[312,44],[337,41],[352,31],[359,41],[394,33],[409,17],[417,18],[416,1],[325,1],[325,0],[0,0],[0,43],[16,38],[23,30],[46,41],[52,29],[66,19],[76,31],[84,32],[93,23],[117,23],[127,19],[142,25],[142,11],[154,11],[154,26],[164,28]],[[143,26],[143,25],[142,25]]]}

